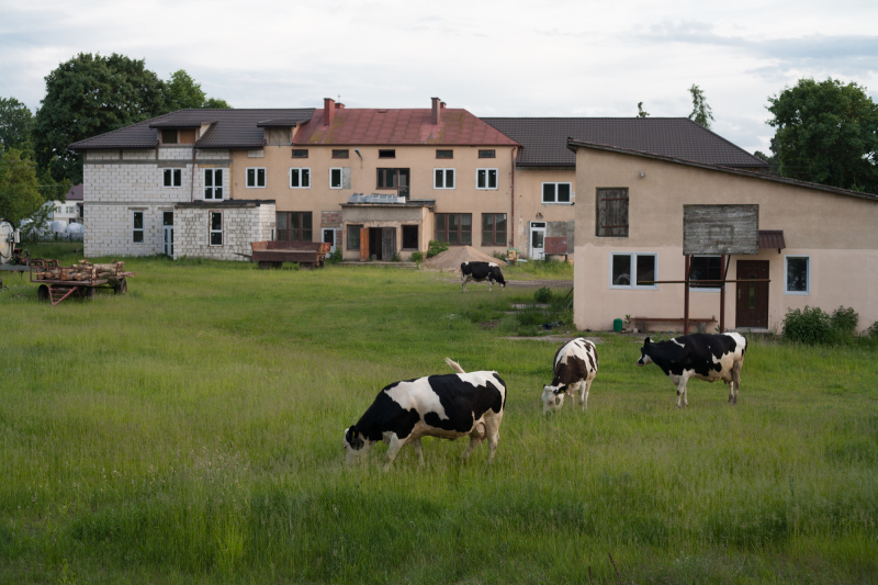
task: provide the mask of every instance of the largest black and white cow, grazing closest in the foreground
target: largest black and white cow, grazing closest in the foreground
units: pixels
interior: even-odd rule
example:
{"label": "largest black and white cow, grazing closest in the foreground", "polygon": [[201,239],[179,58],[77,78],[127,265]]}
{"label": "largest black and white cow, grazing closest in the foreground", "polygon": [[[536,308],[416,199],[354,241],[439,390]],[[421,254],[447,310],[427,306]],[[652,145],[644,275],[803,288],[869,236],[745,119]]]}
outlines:
{"label": "largest black and white cow, grazing closest in the foreground", "polygon": [[421,437],[459,439],[470,436],[464,461],[487,439],[494,460],[506,406],[506,383],[497,372],[429,375],[394,382],[382,390],[360,420],[345,430],[347,463],[365,457],[378,441],[390,443],[387,471],[399,449],[412,443],[424,464]]}

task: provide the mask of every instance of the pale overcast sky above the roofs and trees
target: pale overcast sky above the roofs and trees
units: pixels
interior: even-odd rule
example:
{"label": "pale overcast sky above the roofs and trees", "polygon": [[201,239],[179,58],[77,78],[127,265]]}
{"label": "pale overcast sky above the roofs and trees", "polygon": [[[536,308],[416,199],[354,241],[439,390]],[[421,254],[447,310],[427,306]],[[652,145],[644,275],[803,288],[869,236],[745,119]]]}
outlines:
{"label": "pale overcast sky above the roofs and trees", "polygon": [[[668,5],[671,4],[671,5]],[[0,0],[0,97],[32,110],[77,53],[185,69],[236,108],[428,108],[479,116],[686,116],[768,150],[768,95],[802,77],[878,101],[878,1]]]}

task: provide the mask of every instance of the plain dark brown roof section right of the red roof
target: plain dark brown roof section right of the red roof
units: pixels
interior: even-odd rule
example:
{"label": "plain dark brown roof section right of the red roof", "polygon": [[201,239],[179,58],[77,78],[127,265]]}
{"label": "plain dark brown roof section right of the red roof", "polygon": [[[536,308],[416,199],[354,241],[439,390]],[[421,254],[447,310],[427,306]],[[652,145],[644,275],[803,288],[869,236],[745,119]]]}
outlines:
{"label": "plain dark brown roof section right of the red roof", "polygon": [[519,167],[574,167],[567,138],[684,158],[706,165],[768,165],[687,117],[483,117],[518,140]]}

